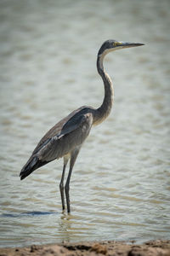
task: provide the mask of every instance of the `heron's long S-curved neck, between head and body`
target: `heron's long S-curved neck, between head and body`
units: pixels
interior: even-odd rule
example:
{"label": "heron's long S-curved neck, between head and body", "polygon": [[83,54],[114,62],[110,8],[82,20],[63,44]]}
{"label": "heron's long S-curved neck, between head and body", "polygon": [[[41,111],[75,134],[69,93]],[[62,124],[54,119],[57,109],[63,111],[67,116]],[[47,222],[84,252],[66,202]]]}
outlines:
{"label": "heron's long S-curved neck, between head and body", "polygon": [[105,97],[101,106],[96,109],[96,114],[94,117],[94,125],[98,125],[99,123],[103,122],[106,119],[106,117],[111,113],[111,107],[113,105],[113,96],[114,96],[113,84],[111,82],[111,78],[109,74],[105,73],[105,69],[103,67],[103,60],[106,53],[104,52],[102,55],[98,54],[98,59],[97,59],[98,73],[103,79],[104,86],[105,86]]}

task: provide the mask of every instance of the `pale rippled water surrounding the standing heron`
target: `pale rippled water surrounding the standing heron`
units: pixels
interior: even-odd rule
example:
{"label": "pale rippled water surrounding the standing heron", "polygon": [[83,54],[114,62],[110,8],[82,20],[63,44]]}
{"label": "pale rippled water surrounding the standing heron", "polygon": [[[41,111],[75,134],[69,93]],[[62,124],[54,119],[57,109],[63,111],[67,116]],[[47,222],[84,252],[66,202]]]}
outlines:
{"label": "pale rippled water surrounding the standing heron", "polygon": [[[0,246],[170,238],[169,8],[164,1],[1,1]],[[115,103],[91,131],[61,212],[62,160],[20,181],[48,129],[98,107],[105,39],[144,43],[105,58]]]}

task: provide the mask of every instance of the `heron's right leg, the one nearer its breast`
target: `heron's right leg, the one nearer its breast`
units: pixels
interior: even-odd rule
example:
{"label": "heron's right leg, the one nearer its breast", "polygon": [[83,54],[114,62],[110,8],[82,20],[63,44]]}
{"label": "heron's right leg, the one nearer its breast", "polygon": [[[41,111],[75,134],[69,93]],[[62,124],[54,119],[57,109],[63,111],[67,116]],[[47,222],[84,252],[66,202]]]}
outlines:
{"label": "heron's right leg, the one nearer its breast", "polygon": [[70,169],[69,169],[69,174],[65,183],[65,196],[66,196],[66,204],[67,204],[67,212],[71,212],[71,207],[70,207],[70,195],[69,195],[69,189],[70,189],[70,180],[71,180],[71,172],[72,168],[77,160],[77,154],[80,151],[80,148],[77,148],[73,152],[71,152],[71,161],[70,161]]}

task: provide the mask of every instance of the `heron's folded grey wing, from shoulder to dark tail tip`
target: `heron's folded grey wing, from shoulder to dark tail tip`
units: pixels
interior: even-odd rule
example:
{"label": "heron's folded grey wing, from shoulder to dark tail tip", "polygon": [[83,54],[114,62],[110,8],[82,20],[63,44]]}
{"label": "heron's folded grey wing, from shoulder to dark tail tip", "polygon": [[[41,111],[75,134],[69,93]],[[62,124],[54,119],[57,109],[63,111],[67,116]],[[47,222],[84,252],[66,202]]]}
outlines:
{"label": "heron's folded grey wing, from shoulder to dark tail tip", "polygon": [[[80,111],[75,111],[75,114],[71,113],[68,117],[70,118],[61,120],[63,125],[60,121],[59,125],[54,125],[54,128],[42,137],[42,140],[31,154],[31,158],[22,168],[20,172],[21,179],[27,177],[37,168],[46,165],[49,161],[69,154],[71,150],[80,146],[88,137],[93,125],[93,113],[89,111],[89,108],[80,108]],[[59,130],[58,126],[60,125]],[[55,127],[58,128],[55,130]],[[58,133],[56,134],[53,129]],[[53,136],[49,137],[49,134]]]}

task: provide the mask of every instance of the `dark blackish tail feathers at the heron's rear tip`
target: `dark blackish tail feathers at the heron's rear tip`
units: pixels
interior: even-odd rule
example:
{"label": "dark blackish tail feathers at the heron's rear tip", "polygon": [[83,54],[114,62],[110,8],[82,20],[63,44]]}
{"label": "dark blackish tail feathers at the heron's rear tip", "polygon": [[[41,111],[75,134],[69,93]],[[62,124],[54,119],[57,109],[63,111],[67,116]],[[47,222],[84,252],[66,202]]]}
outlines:
{"label": "dark blackish tail feathers at the heron's rear tip", "polygon": [[34,172],[37,168],[44,166],[48,163],[48,161],[41,161],[38,160],[37,156],[34,156],[31,158],[31,160],[28,160],[26,165],[22,168],[20,172],[20,179],[24,179],[28,175],[31,174],[31,172]]}

